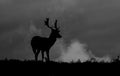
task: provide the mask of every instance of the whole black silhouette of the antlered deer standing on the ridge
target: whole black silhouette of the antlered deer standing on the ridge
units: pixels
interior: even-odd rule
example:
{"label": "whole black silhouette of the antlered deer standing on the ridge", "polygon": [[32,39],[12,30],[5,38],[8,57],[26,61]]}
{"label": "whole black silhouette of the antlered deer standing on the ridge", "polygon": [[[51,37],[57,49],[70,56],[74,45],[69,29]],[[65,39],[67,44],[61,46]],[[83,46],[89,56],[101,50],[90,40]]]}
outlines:
{"label": "whole black silhouette of the antlered deer standing on the ridge", "polygon": [[[49,25],[49,18],[46,18],[44,21],[45,26],[47,26],[51,33],[49,37],[41,37],[41,36],[34,36],[31,40],[31,46],[33,53],[35,55],[35,61],[38,61],[38,55],[41,52],[42,55],[42,61],[47,59],[47,61],[50,60],[49,58],[49,50],[56,42],[57,38],[61,38],[60,35],[60,27],[57,26],[57,20],[55,20],[54,26],[50,27]],[[44,56],[44,53],[46,53],[46,58]]]}

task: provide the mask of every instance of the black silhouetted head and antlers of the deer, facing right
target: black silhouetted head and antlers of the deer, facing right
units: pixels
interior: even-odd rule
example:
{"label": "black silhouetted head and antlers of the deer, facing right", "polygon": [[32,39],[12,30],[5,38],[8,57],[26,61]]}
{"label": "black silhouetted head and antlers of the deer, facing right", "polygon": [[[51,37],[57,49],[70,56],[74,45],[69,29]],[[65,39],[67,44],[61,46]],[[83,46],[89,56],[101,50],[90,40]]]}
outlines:
{"label": "black silhouetted head and antlers of the deer, facing right", "polygon": [[60,35],[60,27],[57,26],[57,20],[55,20],[54,26],[50,27],[49,25],[49,18],[46,18],[45,20],[45,25],[51,29],[51,35],[50,37],[56,37],[56,38],[61,38],[62,36]]}

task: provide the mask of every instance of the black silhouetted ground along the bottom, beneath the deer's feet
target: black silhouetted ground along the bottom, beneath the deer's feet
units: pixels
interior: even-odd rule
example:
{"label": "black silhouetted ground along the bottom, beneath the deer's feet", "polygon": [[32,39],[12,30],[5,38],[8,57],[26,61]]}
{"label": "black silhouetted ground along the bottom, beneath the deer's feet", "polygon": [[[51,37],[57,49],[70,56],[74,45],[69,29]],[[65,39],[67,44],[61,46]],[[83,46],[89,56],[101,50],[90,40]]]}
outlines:
{"label": "black silhouetted ground along the bottom, beneath the deer's feet", "polygon": [[[120,61],[115,60],[112,63],[97,63],[97,62],[85,62],[85,63],[58,63],[58,62],[42,62],[42,61],[19,61],[19,60],[1,60],[0,69],[4,72],[15,71],[28,74],[39,74],[39,76],[80,76],[81,74],[104,74],[112,73],[119,69]],[[109,72],[107,72],[110,70]],[[0,72],[2,72],[0,71]],[[90,73],[88,73],[90,72]],[[36,75],[34,75],[36,76]]]}

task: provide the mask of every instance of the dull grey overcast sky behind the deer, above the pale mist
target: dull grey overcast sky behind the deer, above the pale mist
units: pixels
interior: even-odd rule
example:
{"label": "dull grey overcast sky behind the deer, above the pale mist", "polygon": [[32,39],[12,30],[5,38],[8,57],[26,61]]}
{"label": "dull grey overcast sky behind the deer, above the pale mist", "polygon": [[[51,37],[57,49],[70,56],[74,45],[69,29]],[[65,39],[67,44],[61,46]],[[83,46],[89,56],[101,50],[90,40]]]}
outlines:
{"label": "dull grey overcast sky behind the deer, above the pale mist", "polygon": [[[0,59],[31,59],[30,39],[49,36],[46,17],[58,19],[66,47],[71,40],[86,44],[95,56],[120,54],[119,0],[0,0]],[[73,42],[74,43],[74,42]],[[59,41],[51,58],[60,56]]]}

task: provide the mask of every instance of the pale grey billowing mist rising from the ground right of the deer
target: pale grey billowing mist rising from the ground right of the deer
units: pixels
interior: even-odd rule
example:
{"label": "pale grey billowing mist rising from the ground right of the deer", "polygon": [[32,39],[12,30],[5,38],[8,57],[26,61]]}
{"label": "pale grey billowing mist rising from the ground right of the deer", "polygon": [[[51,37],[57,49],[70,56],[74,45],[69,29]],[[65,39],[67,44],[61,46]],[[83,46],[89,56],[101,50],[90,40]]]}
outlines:
{"label": "pale grey billowing mist rising from the ground right of the deer", "polygon": [[[58,62],[111,62],[112,58],[109,55],[103,57],[95,56],[92,51],[87,49],[87,45],[80,43],[78,40],[72,40],[71,44],[66,47],[65,43],[62,41],[59,45],[61,54],[55,61]],[[94,60],[92,60],[94,59]]]}

